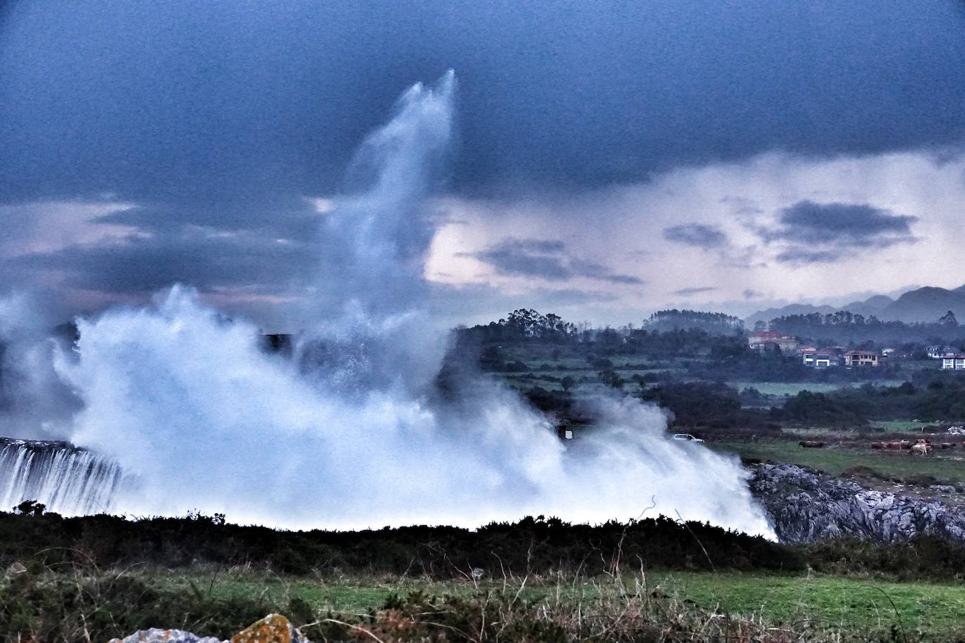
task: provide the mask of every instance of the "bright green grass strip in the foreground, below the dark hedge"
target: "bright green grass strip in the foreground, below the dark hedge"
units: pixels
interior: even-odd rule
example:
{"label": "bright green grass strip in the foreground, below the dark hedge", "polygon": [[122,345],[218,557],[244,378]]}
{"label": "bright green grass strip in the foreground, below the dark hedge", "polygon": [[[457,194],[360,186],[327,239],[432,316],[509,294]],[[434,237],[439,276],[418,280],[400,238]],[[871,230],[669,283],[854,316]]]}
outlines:
{"label": "bright green grass strip in the foreground, below the dark hedge", "polygon": [[[649,572],[621,578],[429,581],[419,578],[318,578],[232,572],[152,572],[153,584],[218,598],[241,596],[265,603],[299,599],[318,611],[364,614],[393,596],[420,591],[470,598],[509,593],[529,602],[589,604],[619,599],[626,591],[659,592],[676,600],[722,613],[763,619],[775,627],[815,630],[888,630],[938,637],[962,627],[965,586],[955,582],[891,582],[838,576],[780,576],[741,573]],[[691,603],[691,604],[693,604]],[[934,640],[945,640],[934,638]]]}

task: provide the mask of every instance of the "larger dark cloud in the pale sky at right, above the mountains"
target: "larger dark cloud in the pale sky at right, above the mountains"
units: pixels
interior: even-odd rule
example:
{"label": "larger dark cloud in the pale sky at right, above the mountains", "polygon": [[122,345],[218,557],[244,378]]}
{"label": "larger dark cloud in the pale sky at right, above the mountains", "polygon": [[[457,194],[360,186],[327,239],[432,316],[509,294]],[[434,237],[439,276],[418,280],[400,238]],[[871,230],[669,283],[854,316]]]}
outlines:
{"label": "larger dark cloud in the pale sky at right, above the mountains", "polygon": [[918,217],[895,214],[869,204],[799,201],[781,211],[780,228],[762,229],[764,241],[786,242],[777,255],[785,263],[834,261],[844,253],[915,243],[911,227]]}

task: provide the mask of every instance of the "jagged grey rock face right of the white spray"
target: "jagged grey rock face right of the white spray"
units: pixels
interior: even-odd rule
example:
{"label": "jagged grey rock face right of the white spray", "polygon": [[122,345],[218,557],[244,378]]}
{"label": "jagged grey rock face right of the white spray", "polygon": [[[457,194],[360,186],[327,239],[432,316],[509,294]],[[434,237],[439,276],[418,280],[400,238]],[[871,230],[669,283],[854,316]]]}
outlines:
{"label": "jagged grey rock face right of the white spray", "polygon": [[871,490],[795,465],[750,469],[751,492],[783,542],[850,536],[897,543],[922,534],[965,542],[965,511],[938,500]]}

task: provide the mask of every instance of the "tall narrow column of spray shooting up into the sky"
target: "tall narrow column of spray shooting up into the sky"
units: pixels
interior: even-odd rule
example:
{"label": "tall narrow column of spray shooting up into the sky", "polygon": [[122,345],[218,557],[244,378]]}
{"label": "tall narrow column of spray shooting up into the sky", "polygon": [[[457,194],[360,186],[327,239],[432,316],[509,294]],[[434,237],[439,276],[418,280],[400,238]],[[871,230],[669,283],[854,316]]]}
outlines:
{"label": "tall narrow column of spray shooting up into the sky", "polygon": [[298,352],[329,386],[417,393],[438,372],[443,329],[423,306],[436,226],[427,201],[445,178],[454,101],[452,70],[402,94],[355,153],[345,194],[325,216],[310,307],[317,324]]}

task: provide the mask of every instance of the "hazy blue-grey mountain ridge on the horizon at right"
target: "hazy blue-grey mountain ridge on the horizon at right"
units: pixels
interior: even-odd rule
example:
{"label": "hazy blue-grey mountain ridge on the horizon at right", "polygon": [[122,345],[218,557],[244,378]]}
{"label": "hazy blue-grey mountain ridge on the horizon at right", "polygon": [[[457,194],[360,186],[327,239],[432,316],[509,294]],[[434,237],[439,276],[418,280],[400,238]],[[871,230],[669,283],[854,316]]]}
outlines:
{"label": "hazy blue-grey mountain ridge on the horizon at right", "polygon": [[837,310],[849,310],[866,317],[874,315],[885,321],[936,322],[951,310],[955,316],[965,321],[965,285],[954,289],[924,286],[903,293],[897,299],[887,295],[874,295],[860,302],[851,302],[841,307],[814,306],[813,304],[790,304],[782,308],[758,310],[744,320],[747,328],[754,328],[758,321],[768,322],[775,317],[786,315],[806,315],[819,312],[822,315]]}

